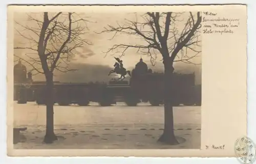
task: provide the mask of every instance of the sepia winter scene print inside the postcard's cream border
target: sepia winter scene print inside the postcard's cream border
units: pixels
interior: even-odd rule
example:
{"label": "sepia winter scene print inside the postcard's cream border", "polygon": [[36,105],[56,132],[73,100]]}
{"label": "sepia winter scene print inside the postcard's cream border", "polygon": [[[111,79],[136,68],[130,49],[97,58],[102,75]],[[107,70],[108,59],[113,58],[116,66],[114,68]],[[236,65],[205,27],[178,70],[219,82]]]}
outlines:
{"label": "sepia winter scene print inside the postcard's cream border", "polygon": [[14,149],[200,149],[202,13],[13,13]]}

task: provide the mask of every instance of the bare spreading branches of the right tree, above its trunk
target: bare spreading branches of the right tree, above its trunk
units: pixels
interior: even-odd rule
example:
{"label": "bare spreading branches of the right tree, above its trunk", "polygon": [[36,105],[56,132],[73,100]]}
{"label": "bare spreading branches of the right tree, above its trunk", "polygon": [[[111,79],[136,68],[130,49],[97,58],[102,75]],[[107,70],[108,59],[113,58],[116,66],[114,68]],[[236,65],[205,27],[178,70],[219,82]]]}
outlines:
{"label": "bare spreading branches of the right tree, above its trunk", "polygon": [[[188,18],[185,19],[184,14],[190,16],[187,16]],[[189,59],[187,49],[200,52],[195,48],[200,47],[199,35],[197,34],[201,28],[201,16],[199,12],[197,13],[197,19],[194,18],[191,12],[147,12],[141,16],[144,22],[139,22],[137,15],[135,16],[135,21],[125,19],[127,23],[122,25],[117,23],[116,27],[108,25],[104,31],[98,34],[113,33],[114,36],[111,39],[115,38],[117,34],[134,37],[140,36],[145,44],[115,44],[105,52],[105,55],[115,50],[115,53],[120,53],[120,57],[122,57],[127,49],[136,48],[137,52],[150,56],[151,63],[154,65],[154,61],[157,59],[155,49],[161,53],[163,60],[168,60],[171,63]],[[182,17],[182,19],[179,19],[179,17]],[[179,28],[177,28],[177,22],[184,22],[184,28],[182,30],[180,29],[180,26],[182,26],[180,24]],[[178,54],[181,54],[181,59],[179,61],[174,60]]]}

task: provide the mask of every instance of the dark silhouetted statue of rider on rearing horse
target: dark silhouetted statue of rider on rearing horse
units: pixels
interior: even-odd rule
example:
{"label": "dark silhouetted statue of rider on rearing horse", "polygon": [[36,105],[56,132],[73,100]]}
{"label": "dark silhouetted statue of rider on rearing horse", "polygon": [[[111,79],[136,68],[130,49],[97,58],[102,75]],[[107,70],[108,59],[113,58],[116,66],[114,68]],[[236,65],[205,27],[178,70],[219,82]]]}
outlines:
{"label": "dark silhouetted statue of rider on rearing horse", "polygon": [[[114,57],[114,58],[115,58],[115,57]],[[117,80],[119,80],[119,79],[123,80],[123,79],[125,78],[125,75],[126,75],[127,73],[128,73],[129,76],[131,77],[131,72],[130,72],[130,71],[126,71],[126,69],[123,68],[123,61],[120,60],[119,58],[115,58],[115,59],[116,59],[116,61],[117,61],[117,62],[115,63],[115,65],[114,65],[115,68],[110,71],[109,75],[110,75],[111,73],[120,74],[121,77],[118,78]]]}

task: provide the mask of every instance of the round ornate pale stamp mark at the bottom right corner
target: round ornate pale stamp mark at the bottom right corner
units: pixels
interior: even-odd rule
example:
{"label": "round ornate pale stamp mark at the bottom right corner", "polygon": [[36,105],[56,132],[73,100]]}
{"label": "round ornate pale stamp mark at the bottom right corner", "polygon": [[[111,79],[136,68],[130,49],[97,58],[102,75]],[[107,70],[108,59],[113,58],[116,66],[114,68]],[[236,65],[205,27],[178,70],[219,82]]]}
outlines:
{"label": "round ornate pale stamp mark at the bottom right corner", "polygon": [[247,136],[243,136],[234,144],[234,153],[240,162],[249,164],[255,159],[256,147],[251,139]]}

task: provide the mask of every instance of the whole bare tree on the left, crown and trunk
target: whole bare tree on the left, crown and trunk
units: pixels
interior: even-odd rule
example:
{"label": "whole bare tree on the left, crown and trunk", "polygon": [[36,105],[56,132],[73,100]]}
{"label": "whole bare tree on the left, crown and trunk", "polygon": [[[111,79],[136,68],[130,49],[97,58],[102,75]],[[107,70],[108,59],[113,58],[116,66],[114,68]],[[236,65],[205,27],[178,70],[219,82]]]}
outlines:
{"label": "whole bare tree on the left, crown and trunk", "polygon": [[[51,13],[52,14],[52,13]],[[14,47],[15,49],[26,49],[26,58],[16,56],[32,67],[31,71],[42,73],[46,77],[46,108],[47,122],[44,142],[52,143],[57,140],[54,133],[54,95],[53,95],[53,72],[73,71],[68,68],[68,62],[74,55],[77,47],[83,44],[90,44],[81,38],[85,34],[86,22],[84,18],[75,13],[43,13],[41,19],[28,15],[28,21],[32,21],[34,26],[17,23],[24,30],[16,30],[19,37],[29,41],[30,46]],[[78,19],[75,19],[75,17]],[[28,43],[26,43],[28,44]],[[15,55],[15,54],[14,54]]]}

